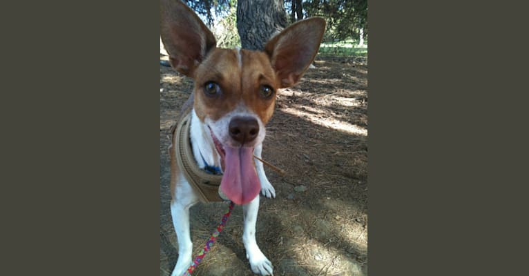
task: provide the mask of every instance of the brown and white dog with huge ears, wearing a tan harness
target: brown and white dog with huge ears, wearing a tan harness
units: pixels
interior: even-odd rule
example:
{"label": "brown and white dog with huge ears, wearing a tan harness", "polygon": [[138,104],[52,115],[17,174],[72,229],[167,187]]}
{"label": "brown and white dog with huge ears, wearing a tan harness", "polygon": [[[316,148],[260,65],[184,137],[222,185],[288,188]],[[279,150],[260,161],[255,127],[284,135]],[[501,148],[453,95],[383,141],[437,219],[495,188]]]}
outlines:
{"label": "brown and white dog with huge ears, wearing a tan harness", "polygon": [[256,242],[259,193],[276,197],[261,157],[265,125],[277,91],[294,86],[316,57],[325,20],[298,21],[273,36],[262,51],[217,48],[213,33],[180,0],[161,0],[161,37],[169,63],[194,79],[194,88],[173,126],[171,216],[178,240],[172,276],[192,262],[189,208],[228,199],[242,205],[242,242],[253,273],[273,266]]}

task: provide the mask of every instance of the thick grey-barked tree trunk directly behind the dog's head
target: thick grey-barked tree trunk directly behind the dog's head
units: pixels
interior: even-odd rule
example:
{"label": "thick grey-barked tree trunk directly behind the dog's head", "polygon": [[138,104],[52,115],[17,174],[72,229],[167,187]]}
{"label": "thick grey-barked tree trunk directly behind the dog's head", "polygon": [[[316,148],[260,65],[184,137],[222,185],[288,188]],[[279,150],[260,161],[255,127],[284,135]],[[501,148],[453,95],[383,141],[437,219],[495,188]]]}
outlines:
{"label": "thick grey-barked tree trunk directly behind the dog's head", "polygon": [[283,0],[237,2],[237,28],[244,49],[262,50],[268,39],[286,26]]}

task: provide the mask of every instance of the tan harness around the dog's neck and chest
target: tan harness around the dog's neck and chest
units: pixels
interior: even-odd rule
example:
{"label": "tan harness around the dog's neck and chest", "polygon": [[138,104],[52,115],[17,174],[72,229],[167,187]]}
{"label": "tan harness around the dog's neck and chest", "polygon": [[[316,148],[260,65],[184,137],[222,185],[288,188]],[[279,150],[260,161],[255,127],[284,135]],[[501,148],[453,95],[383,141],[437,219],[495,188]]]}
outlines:
{"label": "tan harness around the dog's neck and chest", "polygon": [[178,168],[184,174],[186,180],[200,195],[203,202],[222,201],[219,195],[220,181],[222,175],[212,175],[198,167],[193,158],[191,141],[189,139],[189,126],[191,125],[191,112],[188,112],[178,121],[173,132],[175,146],[175,158]]}

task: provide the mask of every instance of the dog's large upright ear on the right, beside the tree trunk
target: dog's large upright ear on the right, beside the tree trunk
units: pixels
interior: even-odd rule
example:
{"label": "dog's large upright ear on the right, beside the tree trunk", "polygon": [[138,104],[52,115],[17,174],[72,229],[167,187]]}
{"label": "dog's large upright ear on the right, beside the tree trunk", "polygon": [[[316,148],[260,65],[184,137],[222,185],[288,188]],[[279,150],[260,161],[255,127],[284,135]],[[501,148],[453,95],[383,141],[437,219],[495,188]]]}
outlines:
{"label": "dog's large upright ear on the right, beside the tree trunk", "polygon": [[320,48],[323,32],[325,20],[311,17],[292,24],[267,42],[264,52],[280,78],[281,88],[294,86],[309,68]]}

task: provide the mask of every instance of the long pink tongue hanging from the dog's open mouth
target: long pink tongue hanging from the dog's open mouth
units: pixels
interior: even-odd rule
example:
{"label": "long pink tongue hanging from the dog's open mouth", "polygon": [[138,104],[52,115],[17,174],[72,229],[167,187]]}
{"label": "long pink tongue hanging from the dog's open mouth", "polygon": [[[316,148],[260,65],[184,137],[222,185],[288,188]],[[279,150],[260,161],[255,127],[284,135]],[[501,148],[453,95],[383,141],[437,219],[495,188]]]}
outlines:
{"label": "long pink tongue hanging from the dog's open mouth", "polygon": [[220,190],[235,204],[247,204],[259,195],[261,183],[253,166],[253,148],[224,146],[224,176]]}

